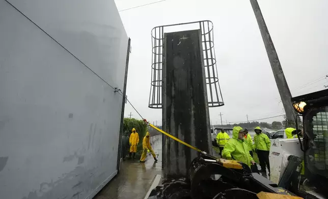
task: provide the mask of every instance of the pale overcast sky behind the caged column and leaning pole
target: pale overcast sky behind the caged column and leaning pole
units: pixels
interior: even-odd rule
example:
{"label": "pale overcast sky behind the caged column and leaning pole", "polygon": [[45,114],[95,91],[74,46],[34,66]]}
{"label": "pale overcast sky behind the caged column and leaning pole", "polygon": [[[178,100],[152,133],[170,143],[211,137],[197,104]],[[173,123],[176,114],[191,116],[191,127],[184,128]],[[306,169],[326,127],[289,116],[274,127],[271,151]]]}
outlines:
{"label": "pale overcast sky behind the caged column and leaning pole", "polygon": [[[124,10],[154,0],[116,0]],[[293,96],[328,85],[328,1],[258,0]],[[127,95],[149,121],[161,124],[161,110],[148,108],[151,29],[158,25],[210,20],[214,24],[217,71],[225,106],[210,108],[212,124],[284,114],[260,31],[248,0],[167,0],[120,12],[131,38]],[[245,97],[241,97],[245,96]],[[125,106],[125,117],[132,112]],[[282,117],[261,120],[282,121]]]}

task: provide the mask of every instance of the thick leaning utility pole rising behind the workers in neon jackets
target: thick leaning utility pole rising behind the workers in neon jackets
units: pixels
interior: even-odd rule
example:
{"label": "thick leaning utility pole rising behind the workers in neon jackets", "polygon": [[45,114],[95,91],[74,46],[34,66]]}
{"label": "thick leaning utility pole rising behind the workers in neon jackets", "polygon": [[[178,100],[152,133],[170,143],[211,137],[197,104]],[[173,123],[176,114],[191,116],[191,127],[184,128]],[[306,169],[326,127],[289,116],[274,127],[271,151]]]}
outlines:
{"label": "thick leaning utility pole rising behind the workers in neon jackets", "polygon": [[283,103],[283,106],[284,106],[284,109],[286,112],[287,119],[290,122],[292,122],[295,119],[296,113],[290,102],[291,93],[290,93],[288,84],[286,82],[284,72],[281,68],[281,64],[280,64],[280,61],[278,58],[277,51],[275,49],[274,43],[271,40],[271,36],[270,36],[267,26],[265,24],[265,21],[264,21],[264,18],[263,18],[263,15],[262,15],[262,12],[260,10],[260,6],[259,6],[257,0],[250,0],[250,2],[252,5],[254,14],[255,14],[255,18],[256,18],[257,23],[260,28],[262,39],[263,39],[264,46],[266,49],[266,53],[267,53],[269,61],[270,61],[272,72],[274,73],[274,77],[275,77],[278,91],[279,91],[279,94],[281,97],[281,101]]}

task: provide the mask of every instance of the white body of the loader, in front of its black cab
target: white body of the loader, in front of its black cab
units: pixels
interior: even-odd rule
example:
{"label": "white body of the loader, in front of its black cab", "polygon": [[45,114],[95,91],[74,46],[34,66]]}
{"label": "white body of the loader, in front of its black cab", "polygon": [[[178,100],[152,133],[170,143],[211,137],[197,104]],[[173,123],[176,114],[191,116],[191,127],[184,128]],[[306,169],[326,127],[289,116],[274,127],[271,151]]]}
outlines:
{"label": "white body of the loader, in front of its black cab", "polygon": [[271,171],[270,180],[272,182],[279,183],[280,177],[288,164],[287,158],[289,155],[303,157],[303,152],[300,150],[297,138],[271,140],[269,161]]}

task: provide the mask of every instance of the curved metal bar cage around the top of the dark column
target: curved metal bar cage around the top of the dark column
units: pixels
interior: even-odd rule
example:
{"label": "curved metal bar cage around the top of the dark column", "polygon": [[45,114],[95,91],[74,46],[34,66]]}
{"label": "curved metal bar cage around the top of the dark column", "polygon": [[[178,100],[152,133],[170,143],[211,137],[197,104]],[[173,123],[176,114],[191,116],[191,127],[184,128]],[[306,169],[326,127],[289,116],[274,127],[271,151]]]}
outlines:
{"label": "curved metal bar cage around the top of the dark column", "polygon": [[216,58],[213,42],[213,23],[209,20],[204,20],[156,26],[151,30],[152,70],[148,105],[149,108],[162,108],[162,47],[164,42],[165,27],[181,26],[187,24],[199,24],[199,29],[201,30],[208,107],[220,107],[224,105],[220,84],[218,83]]}

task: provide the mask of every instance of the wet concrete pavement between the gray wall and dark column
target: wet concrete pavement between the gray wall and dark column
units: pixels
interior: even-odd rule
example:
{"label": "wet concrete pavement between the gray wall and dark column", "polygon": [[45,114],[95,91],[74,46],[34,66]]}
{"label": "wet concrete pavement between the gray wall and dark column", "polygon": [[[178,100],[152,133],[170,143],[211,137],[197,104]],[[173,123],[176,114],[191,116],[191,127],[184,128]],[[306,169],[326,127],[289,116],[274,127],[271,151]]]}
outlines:
{"label": "wet concrete pavement between the gray wall and dark column", "polygon": [[[144,198],[156,175],[161,175],[162,142],[161,135],[151,137],[151,144],[158,162],[147,154],[146,162],[140,163],[140,155],[135,160],[122,161],[119,174],[108,183],[94,199],[139,199]],[[137,158],[138,157],[138,158]]]}

